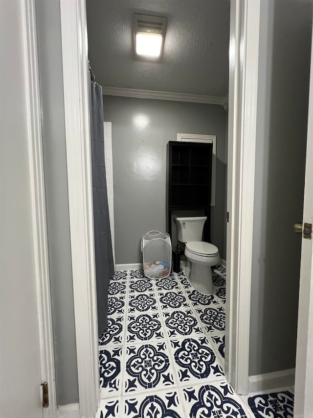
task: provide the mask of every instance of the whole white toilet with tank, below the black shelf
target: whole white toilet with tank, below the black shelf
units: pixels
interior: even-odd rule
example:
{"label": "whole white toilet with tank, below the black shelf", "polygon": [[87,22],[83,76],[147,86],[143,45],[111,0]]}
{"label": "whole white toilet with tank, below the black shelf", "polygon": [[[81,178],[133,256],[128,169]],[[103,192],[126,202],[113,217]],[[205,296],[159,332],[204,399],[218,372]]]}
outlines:
{"label": "whole white toilet with tank, below the black shelf", "polygon": [[187,279],[199,292],[212,294],[211,266],[218,264],[221,258],[217,246],[201,241],[206,219],[206,216],[174,217],[177,227],[177,238],[179,242],[186,245]]}

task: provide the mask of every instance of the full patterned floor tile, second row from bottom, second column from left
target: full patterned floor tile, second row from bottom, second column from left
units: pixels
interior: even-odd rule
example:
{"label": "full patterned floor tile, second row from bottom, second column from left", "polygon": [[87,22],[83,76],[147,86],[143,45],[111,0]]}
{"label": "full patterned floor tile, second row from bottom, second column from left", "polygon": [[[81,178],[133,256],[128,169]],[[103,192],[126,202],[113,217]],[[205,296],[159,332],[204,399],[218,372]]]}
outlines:
{"label": "full patterned floor tile, second row from bottom, second column from left", "polygon": [[[174,370],[169,358],[168,342],[128,345],[124,392],[144,392],[175,386]],[[156,393],[156,391],[153,391]]]}

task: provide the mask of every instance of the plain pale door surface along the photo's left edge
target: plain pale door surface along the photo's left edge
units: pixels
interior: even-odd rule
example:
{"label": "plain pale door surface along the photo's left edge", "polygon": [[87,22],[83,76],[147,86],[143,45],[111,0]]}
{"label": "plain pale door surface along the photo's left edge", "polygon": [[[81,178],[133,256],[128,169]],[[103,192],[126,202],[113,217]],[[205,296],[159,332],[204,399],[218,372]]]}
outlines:
{"label": "plain pale door surface along the photo's left edge", "polygon": [[0,1],[0,417],[42,418],[21,7]]}

